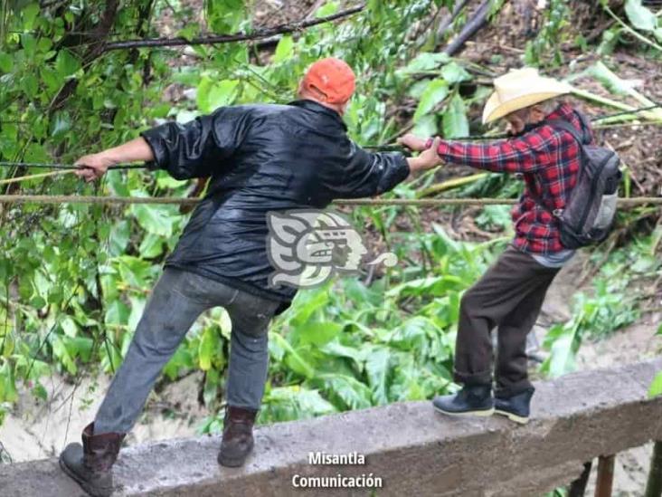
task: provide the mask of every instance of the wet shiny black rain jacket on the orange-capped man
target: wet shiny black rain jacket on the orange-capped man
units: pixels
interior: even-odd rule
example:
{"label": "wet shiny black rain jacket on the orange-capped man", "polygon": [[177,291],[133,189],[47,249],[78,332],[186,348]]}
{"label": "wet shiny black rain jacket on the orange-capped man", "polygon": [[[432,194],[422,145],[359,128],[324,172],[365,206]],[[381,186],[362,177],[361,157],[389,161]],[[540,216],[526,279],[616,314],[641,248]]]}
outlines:
{"label": "wet shiny black rain jacket on the orange-capped man", "polygon": [[165,267],[281,301],[279,311],[296,289],[269,285],[267,213],[379,195],[410,172],[400,153],[356,146],[340,115],[312,100],[222,107],[141,136],[154,152],[152,169],[176,179],[211,177]]}

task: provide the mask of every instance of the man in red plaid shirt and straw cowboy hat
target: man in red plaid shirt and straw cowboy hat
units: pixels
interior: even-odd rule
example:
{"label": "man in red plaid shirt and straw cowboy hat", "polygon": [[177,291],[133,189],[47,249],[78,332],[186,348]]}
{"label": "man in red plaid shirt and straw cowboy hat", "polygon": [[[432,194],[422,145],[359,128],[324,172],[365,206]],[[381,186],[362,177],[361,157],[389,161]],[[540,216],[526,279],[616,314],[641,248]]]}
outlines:
{"label": "man in red plaid shirt and straw cowboy hat", "polygon": [[[452,164],[520,174],[525,191],[512,211],[515,240],[460,302],[454,377],[457,395],[437,397],[447,415],[508,416],[526,423],[534,387],[527,378],[526,335],[540,313],[554,276],[574,251],[564,249],[553,212],[563,209],[580,168],[580,147],[563,129],[545,124],[564,119],[582,130],[572,107],[556,100],[569,91],[533,69],[497,78],[484,122],[506,119],[512,139],[486,144],[442,140],[439,155]],[[587,130],[590,131],[590,130]],[[402,145],[430,147],[430,140],[405,135]],[[542,205],[541,205],[542,204]],[[498,330],[495,398],[492,397],[491,331]]]}

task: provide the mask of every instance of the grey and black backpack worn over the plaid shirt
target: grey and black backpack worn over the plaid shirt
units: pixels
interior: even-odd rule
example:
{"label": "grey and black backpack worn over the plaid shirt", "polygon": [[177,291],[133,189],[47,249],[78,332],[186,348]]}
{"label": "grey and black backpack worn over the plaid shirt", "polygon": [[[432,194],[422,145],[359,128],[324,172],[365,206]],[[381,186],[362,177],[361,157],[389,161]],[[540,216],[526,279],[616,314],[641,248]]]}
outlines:
{"label": "grey and black backpack worn over the plaid shirt", "polygon": [[[589,145],[589,123],[580,112],[576,113],[582,121],[582,132],[563,119],[542,123],[567,131],[580,147],[577,184],[572,188],[565,208],[551,213],[559,221],[561,244],[567,249],[598,244],[607,237],[616,215],[621,177],[618,154],[609,148]],[[535,194],[534,199],[549,212],[542,199]]]}

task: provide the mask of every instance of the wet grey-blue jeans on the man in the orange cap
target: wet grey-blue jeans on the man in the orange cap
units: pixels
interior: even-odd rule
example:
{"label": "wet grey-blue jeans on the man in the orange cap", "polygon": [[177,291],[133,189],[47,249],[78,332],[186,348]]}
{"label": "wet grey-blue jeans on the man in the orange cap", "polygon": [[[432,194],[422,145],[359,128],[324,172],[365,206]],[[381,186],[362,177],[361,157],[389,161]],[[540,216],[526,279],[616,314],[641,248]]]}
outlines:
{"label": "wet grey-blue jeans on the man in the orange cap", "polygon": [[269,322],[279,306],[194,272],[166,268],[94,420],[94,433],[127,433],[194,321],[216,306],[232,320],[227,402],[257,410],[267,379]]}

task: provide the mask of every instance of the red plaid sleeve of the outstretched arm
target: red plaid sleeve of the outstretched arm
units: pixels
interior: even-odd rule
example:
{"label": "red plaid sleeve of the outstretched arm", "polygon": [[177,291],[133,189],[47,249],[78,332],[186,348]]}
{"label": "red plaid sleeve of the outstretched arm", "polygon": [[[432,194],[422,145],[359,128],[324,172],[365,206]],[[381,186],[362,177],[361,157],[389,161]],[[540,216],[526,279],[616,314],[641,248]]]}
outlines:
{"label": "red plaid sleeve of the outstretched arm", "polygon": [[442,140],[439,155],[451,164],[497,173],[531,173],[550,164],[550,149],[555,143],[553,129],[544,127],[521,137],[485,144]]}

